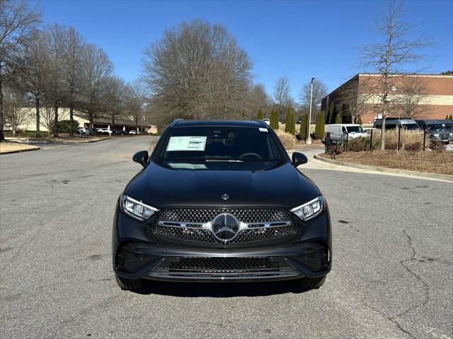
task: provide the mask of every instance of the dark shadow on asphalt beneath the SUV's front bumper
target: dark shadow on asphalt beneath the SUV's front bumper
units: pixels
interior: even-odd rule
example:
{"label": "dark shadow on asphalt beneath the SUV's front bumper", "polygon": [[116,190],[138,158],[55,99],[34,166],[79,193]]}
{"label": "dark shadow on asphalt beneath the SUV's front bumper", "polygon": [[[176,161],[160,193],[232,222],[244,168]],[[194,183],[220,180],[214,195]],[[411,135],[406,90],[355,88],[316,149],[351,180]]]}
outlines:
{"label": "dark shadow on asphalt beneath the SUV's front bumper", "polygon": [[140,295],[172,297],[263,297],[285,293],[302,293],[297,280],[258,283],[164,283],[153,282],[149,287],[134,291]]}

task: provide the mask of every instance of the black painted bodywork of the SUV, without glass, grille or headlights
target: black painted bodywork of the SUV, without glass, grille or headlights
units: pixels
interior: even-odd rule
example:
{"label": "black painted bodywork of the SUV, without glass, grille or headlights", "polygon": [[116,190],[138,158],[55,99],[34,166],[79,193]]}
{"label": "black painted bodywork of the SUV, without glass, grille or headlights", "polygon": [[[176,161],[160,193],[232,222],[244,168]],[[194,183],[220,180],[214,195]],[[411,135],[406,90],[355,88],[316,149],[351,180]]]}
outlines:
{"label": "black painted bodywork of the SUV, without glass, grille or headlights", "polygon": [[[277,145],[283,161],[267,170],[241,169],[241,164],[229,162],[212,164],[215,168],[204,170],[173,169],[165,166],[157,161],[156,156],[159,154],[161,141],[165,139],[166,133],[173,124],[164,131],[149,159],[144,151],[134,155],[134,161],[143,165],[144,168],[127,184],[124,194],[160,210],[170,207],[290,210],[321,194],[309,178],[294,168],[294,165],[306,162],[306,157],[299,153],[293,155],[293,161],[289,160],[280,142]],[[180,124],[222,124],[222,126],[226,124],[228,126],[228,124],[247,124],[247,121],[181,121]],[[259,122],[248,121],[248,124],[267,127],[265,123]],[[277,138],[272,129],[269,129],[269,132]],[[221,198],[222,194],[230,196],[227,202]],[[296,215],[292,215],[293,222],[297,225],[297,232],[288,239],[269,244],[200,245],[161,239],[152,230],[157,215],[153,215],[146,222],[134,220],[122,212],[118,200],[113,222],[113,268],[117,275],[132,279],[149,278],[145,275],[156,265],[158,259],[168,256],[285,256],[299,270],[299,275],[293,278],[321,277],[331,270],[331,221],[326,201],[323,212],[312,220],[303,222]],[[120,246],[121,249],[127,248],[127,251],[132,251],[137,258],[134,259],[135,261],[132,260],[129,270],[117,267],[115,257]],[[330,260],[326,267],[310,269],[312,258],[309,258],[309,253],[319,246],[326,248]],[[278,279],[259,278],[259,280]],[[208,281],[212,279],[178,278],[177,280]],[[227,281],[232,280],[243,279]],[[214,281],[218,280],[214,279]]]}

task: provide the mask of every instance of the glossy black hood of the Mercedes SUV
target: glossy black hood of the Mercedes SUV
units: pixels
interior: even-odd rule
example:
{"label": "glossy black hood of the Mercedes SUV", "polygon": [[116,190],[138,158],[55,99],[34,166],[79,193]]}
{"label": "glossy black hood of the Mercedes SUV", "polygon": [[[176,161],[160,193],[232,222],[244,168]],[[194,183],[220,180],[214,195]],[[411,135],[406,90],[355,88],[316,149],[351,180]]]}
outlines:
{"label": "glossy black hood of the Mercedes SUV", "polygon": [[[320,192],[289,162],[274,163],[265,169],[250,162],[219,162],[207,167],[198,165],[196,169],[151,162],[127,185],[125,194],[156,208],[294,208]],[[229,199],[224,201],[223,194]]]}

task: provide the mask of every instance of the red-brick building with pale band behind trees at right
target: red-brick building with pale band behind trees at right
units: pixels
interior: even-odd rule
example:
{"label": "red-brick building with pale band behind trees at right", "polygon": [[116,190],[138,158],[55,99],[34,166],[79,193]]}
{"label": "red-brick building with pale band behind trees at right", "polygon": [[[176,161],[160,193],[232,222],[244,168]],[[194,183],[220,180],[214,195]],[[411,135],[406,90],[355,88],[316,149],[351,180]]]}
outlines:
{"label": "red-brick building with pale band behind trees at right", "polygon": [[[359,73],[340,85],[326,97],[323,97],[321,109],[329,119],[329,107],[333,102],[334,112],[331,121],[342,105],[343,117],[348,112],[349,105],[355,105],[356,111],[362,117],[364,124],[372,124],[382,110],[382,100],[379,93],[378,74]],[[453,76],[435,74],[414,74],[408,76],[391,76],[389,88],[389,112],[387,117],[406,117],[445,119],[453,114]],[[331,121],[326,121],[328,124]]]}

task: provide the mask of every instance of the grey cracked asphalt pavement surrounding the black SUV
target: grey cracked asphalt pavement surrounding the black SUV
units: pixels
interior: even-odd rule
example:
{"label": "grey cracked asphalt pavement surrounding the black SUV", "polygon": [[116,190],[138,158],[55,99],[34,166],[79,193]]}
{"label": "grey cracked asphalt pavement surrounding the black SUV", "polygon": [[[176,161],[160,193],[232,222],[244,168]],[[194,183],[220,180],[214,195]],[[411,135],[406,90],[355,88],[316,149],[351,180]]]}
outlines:
{"label": "grey cracked asphalt pavement surrounding the black SUV", "polygon": [[[151,137],[0,155],[2,338],[451,338],[453,184],[299,169],[323,191],[333,270],[292,283],[124,292],[111,268],[117,196]],[[177,192],[175,192],[177,194]]]}

